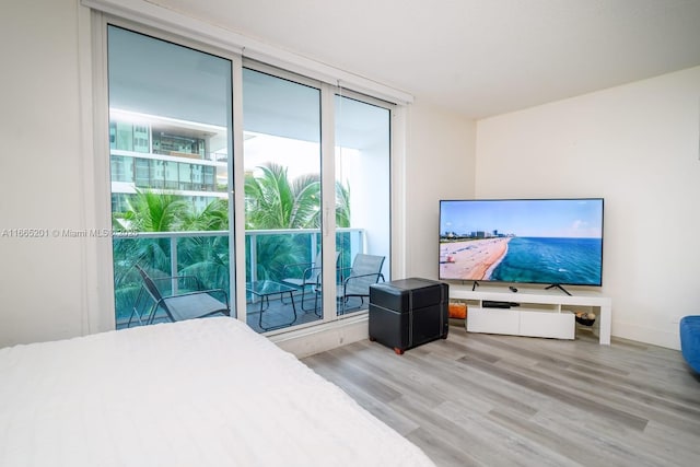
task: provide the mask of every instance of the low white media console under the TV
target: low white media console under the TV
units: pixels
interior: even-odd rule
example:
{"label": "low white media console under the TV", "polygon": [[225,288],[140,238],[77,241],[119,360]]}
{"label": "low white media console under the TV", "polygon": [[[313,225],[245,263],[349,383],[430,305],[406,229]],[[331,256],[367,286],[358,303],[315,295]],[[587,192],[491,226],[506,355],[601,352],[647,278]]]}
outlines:
{"label": "low white media console under the TV", "polygon": [[[551,290],[521,288],[511,292],[505,287],[450,284],[450,297],[464,300],[468,305],[469,332],[509,334],[515,336],[573,339],[574,313],[593,311],[596,314],[600,345],[610,345],[612,300],[595,292],[575,291],[573,295]],[[510,308],[483,307],[485,301],[510,302]]]}

